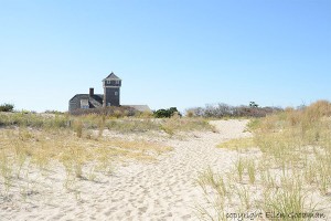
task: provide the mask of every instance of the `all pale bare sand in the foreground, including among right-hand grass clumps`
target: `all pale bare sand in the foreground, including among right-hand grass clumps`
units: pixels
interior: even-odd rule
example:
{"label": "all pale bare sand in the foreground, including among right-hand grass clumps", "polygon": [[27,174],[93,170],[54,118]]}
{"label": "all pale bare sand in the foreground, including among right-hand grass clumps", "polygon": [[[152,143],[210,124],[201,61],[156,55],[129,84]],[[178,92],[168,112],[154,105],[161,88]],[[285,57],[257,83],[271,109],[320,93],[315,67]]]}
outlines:
{"label": "all pale bare sand in the foreground, including among right-hand grass clumps", "polygon": [[[266,181],[270,173],[263,171],[266,165],[260,159],[267,158],[263,158],[258,148],[216,148],[236,138],[248,140],[253,136],[246,128],[248,122],[211,120],[213,131],[181,131],[173,136],[105,130],[103,136],[111,139],[137,140],[134,144],[146,140],[171,148],[160,151],[152,160],[115,161],[109,172],[94,172],[94,167],[86,165],[84,176],[75,181],[67,179],[67,170],[56,161],[42,170],[28,165],[29,170],[15,178],[9,193],[0,197],[0,220],[228,220],[224,215],[231,213],[257,215],[253,220],[270,220],[267,215],[273,211],[264,209],[268,203],[265,194],[277,190],[281,180],[286,182],[281,168],[267,166],[273,170],[273,179],[280,180],[268,178]],[[238,162],[243,159],[255,160],[259,167],[256,181],[252,182],[248,169],[243,178],[238,177]],[[247,161],[242,162],[249,167]],[[215,177],[213,186],[211,177],[204,177],[209,179],[204,180],[204,189],[200,181],[207,170],[222,179]],[[223,193],[217,189],[222,187],[222,180],[226,188]],[[302,199],[307,208],[298,211],[321,215],[313,220],[328,220],[331,214],[328,193],[321,196],[317,188],[300,187],[305,190]],[[4,189],[1,191],[6,192]],[[217,201],[218,197],[221,201]]]}

